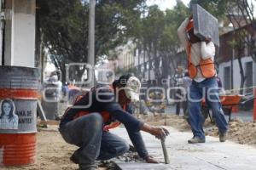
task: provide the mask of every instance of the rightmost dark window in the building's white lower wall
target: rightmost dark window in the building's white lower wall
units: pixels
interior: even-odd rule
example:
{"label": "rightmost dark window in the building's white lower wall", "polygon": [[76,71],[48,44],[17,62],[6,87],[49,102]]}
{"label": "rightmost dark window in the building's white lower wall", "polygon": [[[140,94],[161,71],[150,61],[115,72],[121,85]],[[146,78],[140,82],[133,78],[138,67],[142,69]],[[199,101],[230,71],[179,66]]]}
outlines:
{"label": "rightmost dark window in the building's white lower wall", "polygon": [[246,88],[246,93],[252,93],[253,88],[250,88],[253,86],[253,62],[247,62],[245,65],[245,76],[246,76],[246,82],[245,82],[245,88]]}

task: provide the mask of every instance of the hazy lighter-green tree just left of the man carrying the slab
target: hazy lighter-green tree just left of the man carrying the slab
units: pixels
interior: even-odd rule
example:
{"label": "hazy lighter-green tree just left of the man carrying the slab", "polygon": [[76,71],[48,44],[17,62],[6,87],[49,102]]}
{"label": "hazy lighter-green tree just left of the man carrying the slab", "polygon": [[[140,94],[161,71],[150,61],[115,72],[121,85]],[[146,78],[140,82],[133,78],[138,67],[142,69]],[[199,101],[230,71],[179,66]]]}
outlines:
{"label": "hazy lighter-green tree just left of the man carrying the slab", "polygon": [[134,42],[147,54],[149,70],[154,69],[156,78],[167,77],[172,74],[171,67],[176,67],[173,58],[180,47],[177,27],[188,15],[189,8],[183,3],[166,11],[153,5],[145,10],[134,26]]}

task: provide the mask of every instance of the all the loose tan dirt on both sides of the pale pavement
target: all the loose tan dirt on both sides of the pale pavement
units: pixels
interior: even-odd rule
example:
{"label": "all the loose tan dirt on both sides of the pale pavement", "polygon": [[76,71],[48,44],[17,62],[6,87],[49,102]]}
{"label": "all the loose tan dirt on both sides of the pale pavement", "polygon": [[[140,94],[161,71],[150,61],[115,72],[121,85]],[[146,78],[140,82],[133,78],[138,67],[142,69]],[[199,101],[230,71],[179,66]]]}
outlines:
{"label": "all the loose tan dirt on both sides of the pale pavement", "polygon": [[[188,123],[182,116],[139,116],[144,122],[151,125],[163,125],[176,127],[180,131],[190,132]],[[208,121],[205,123],[205,131],[207,135],[218,136],[218,128]],[[69,157],[76,146],[65,143],[57,130],[56,125],[51,125],[48,128],[38,127],[38,148],[37,148],[37,163],[27,167],[0,167],[1,170],[77,170],[78,165],[69,161]],[[256,147],[256,122],[241,122],[233,120],[230,122],[229,139],[239,144],[250,144]],[[123,161],[134,157],[135,153],[128,153],[129,156],[119,157]],[[133,161],[136,161],[134,159]],[[100,163],[100,170],[107,170],[111,163],[108,161],[105,164]],[[112,167],[113,169],[113,167]]]}

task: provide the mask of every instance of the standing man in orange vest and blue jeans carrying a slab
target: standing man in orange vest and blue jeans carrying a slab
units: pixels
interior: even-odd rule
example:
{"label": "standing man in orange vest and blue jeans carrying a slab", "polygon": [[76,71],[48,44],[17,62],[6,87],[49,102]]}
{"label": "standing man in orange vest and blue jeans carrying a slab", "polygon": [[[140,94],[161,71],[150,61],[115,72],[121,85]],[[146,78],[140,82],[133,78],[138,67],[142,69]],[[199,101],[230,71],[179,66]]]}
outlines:
{"label": "standing man in orange vest and blue jeans carrying a slab", "polygon": [[216,118],[219,141],[227,138],[228,123],[219,102],[216,71],[214,68],[215,47],[211,37],[201,40],[194,34],[194,20],[191,15],[177,29],[177,34],[188,55],[189,77],[193,79],[189,89],[189,123],[194,134],[189,144],[205,143],[203,118],[201,115],[201,99],[204,96]]}

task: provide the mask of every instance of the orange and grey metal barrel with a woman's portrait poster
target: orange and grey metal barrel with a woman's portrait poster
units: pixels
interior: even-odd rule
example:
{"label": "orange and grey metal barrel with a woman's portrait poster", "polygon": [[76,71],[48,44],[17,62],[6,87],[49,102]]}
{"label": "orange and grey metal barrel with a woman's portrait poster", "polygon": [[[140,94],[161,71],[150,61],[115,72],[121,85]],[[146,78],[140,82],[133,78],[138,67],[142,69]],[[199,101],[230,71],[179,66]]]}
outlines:
{"label": "orange and grey metal barrel with a woman's portrait poster", "polygon": [[36,161],[37,68],[0,66],[0,167]]}

